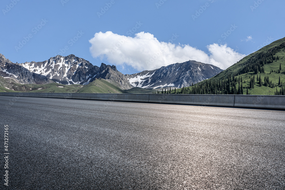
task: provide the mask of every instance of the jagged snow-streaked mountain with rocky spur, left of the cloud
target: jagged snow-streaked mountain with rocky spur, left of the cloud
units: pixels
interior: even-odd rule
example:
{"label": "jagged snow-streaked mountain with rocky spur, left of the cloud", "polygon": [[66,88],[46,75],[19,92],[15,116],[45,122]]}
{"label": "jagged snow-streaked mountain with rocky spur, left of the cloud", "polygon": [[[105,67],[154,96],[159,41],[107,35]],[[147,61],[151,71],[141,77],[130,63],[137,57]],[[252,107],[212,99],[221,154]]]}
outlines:
{"label": "jagged snow-streaked mountain with rocky spur, left of the cloud", "polygon": [[103,63],[100,67],[94,66],[89,61],[72,54],[66,57],[58,55],[44,62],[25,62],[18,65],[64,85],[87,85],[96,78],[103,78],[121,89],[133,87],[126,76],[116,69],[116,66]]}

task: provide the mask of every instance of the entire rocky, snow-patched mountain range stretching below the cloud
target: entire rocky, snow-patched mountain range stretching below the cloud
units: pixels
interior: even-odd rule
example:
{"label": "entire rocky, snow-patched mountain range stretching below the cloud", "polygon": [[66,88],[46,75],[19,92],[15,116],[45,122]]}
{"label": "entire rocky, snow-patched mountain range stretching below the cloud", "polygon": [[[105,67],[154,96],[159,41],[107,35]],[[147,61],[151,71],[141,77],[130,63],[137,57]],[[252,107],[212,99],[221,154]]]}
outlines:
{"label": "entire rocky, snow-patched mountain range stretching below the cloud", "polygon": [[75,55],[56,56],[43,62],[15,64],[0,54],[0,76],[22,84],[60,83],[87,85],[102,78],[121,89],[187,87],[220,73],[220,68],[196,61],[176,63],[152,71],[123,75],[116,66],[94,66]]}

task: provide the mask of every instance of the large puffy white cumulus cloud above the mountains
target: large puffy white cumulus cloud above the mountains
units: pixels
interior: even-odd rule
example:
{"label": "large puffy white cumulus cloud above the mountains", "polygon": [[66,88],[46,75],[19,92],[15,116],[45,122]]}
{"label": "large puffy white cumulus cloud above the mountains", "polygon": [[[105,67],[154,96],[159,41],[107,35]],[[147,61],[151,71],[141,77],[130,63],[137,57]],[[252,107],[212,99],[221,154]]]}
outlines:
{"label": "large puffy white cumulus cloud above the mountains", "polygon": [[188,60],[226,69],[245,56],[227,47],[226,44],[207,46],[208,55],[189,45],[160,42],[153,34],[145,32],[137,33],[135,37],[122,36],[111,31],[98,32],[89,42],[90,52],[94,58],[106,58],[112,64],[131,66],[138,71],[154,70]]}

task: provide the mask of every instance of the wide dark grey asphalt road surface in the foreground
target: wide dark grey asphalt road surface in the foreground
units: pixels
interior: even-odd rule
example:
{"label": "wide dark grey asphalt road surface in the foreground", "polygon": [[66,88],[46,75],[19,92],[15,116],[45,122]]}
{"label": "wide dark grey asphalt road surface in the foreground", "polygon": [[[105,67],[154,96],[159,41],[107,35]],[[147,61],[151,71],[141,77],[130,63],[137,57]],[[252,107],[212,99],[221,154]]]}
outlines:
{"label": "wide dark grey asphalt road surface in the foreground", "polygon": [[285,189],[284,111],[0,96],[0,124],[3,189]]}

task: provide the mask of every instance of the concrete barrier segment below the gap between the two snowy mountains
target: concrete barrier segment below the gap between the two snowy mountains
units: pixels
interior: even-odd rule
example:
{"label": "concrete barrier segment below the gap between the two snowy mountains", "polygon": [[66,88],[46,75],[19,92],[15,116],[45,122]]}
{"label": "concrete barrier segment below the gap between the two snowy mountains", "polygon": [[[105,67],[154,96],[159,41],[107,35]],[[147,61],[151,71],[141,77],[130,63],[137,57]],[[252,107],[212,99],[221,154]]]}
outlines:
{"label": "concrete barrier segment below the gap between the two snowy mountains", "polygon": [[109,101],[148,102],[148,94],[108,94]]}

